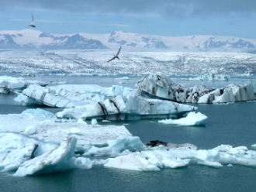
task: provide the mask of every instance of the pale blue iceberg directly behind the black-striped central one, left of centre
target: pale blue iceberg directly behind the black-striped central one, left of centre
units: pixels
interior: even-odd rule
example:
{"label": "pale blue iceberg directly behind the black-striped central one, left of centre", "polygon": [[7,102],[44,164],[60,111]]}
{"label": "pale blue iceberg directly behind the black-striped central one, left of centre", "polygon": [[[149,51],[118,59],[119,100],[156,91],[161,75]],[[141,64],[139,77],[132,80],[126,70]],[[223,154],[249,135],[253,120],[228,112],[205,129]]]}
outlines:
{"label": "pale blue iceberg directly behind the black-striped central one, left of centre", "polygon": [[126,96],[133,89],[119,85],[101,87],[95,84],[64,84],[41,87],[32,84],[14,99],[16,105],[47,105],[56,108],[74,108],[92,105],[106,98]]}

